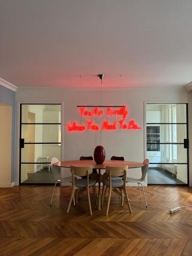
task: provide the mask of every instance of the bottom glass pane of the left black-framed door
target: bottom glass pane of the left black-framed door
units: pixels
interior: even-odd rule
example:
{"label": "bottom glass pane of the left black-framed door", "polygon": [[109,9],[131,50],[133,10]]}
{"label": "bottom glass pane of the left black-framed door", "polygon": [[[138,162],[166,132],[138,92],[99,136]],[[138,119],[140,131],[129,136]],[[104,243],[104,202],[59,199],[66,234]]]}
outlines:
{"label": "bottom glass pane of the left black-framed door", "polygon": [[54,183],[50,164],[22,164],[21,183]]}

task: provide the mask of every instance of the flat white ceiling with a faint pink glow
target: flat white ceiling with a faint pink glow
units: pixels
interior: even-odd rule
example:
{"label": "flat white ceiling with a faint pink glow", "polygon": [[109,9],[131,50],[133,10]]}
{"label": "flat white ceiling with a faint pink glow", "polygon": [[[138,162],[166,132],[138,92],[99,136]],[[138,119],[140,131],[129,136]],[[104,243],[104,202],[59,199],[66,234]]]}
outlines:
{"label": "flat white ceiling with a faint pink glow", "polygon": [[1,0],[0,77],[17,87],[97,87],[100,73],[103,87],[184,86],[191,13],[191,0]]}

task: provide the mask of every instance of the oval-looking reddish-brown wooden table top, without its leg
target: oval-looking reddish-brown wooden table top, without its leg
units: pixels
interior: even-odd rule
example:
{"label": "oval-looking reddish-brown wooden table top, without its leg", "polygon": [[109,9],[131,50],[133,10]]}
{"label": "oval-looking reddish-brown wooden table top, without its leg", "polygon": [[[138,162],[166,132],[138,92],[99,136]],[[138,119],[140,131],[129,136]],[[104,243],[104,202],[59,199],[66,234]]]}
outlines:
{"label": "oval-looking reddish-brown wooden table top, without its leg", "polygon": [[71,160],[71,161],[61,161],[54,163],[54,165],[59,167],[70,168],[73,166],[92,166],[95,169],[106,169],[106,166],[124,166],[128,165],[128,168],[139,168],[144,166],[143,163],[133,162],[133,161],[119,161],[119,160],[105,160],[102,164],[96,164],[94,160]]}

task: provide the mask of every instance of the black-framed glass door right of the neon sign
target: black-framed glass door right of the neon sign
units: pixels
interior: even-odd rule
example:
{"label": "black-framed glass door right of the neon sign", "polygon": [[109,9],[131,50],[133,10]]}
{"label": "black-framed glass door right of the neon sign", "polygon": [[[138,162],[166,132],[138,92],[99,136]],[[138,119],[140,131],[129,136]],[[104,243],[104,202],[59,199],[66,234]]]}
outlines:
{"label": "black-framed glass door right of the neon sign", "polygon": [[188,105],[146,104],[148,184],[188,185]]}

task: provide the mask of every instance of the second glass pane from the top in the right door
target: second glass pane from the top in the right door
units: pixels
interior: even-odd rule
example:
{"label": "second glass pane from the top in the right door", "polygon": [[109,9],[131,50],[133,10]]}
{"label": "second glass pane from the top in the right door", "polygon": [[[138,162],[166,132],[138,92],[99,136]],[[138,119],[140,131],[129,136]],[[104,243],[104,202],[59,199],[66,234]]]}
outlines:
{"label": "second glass pane from the top in the right door", "polygon": [[146,142],[150,143],[183,143],[187,138],[186,124],[146,125]]}

